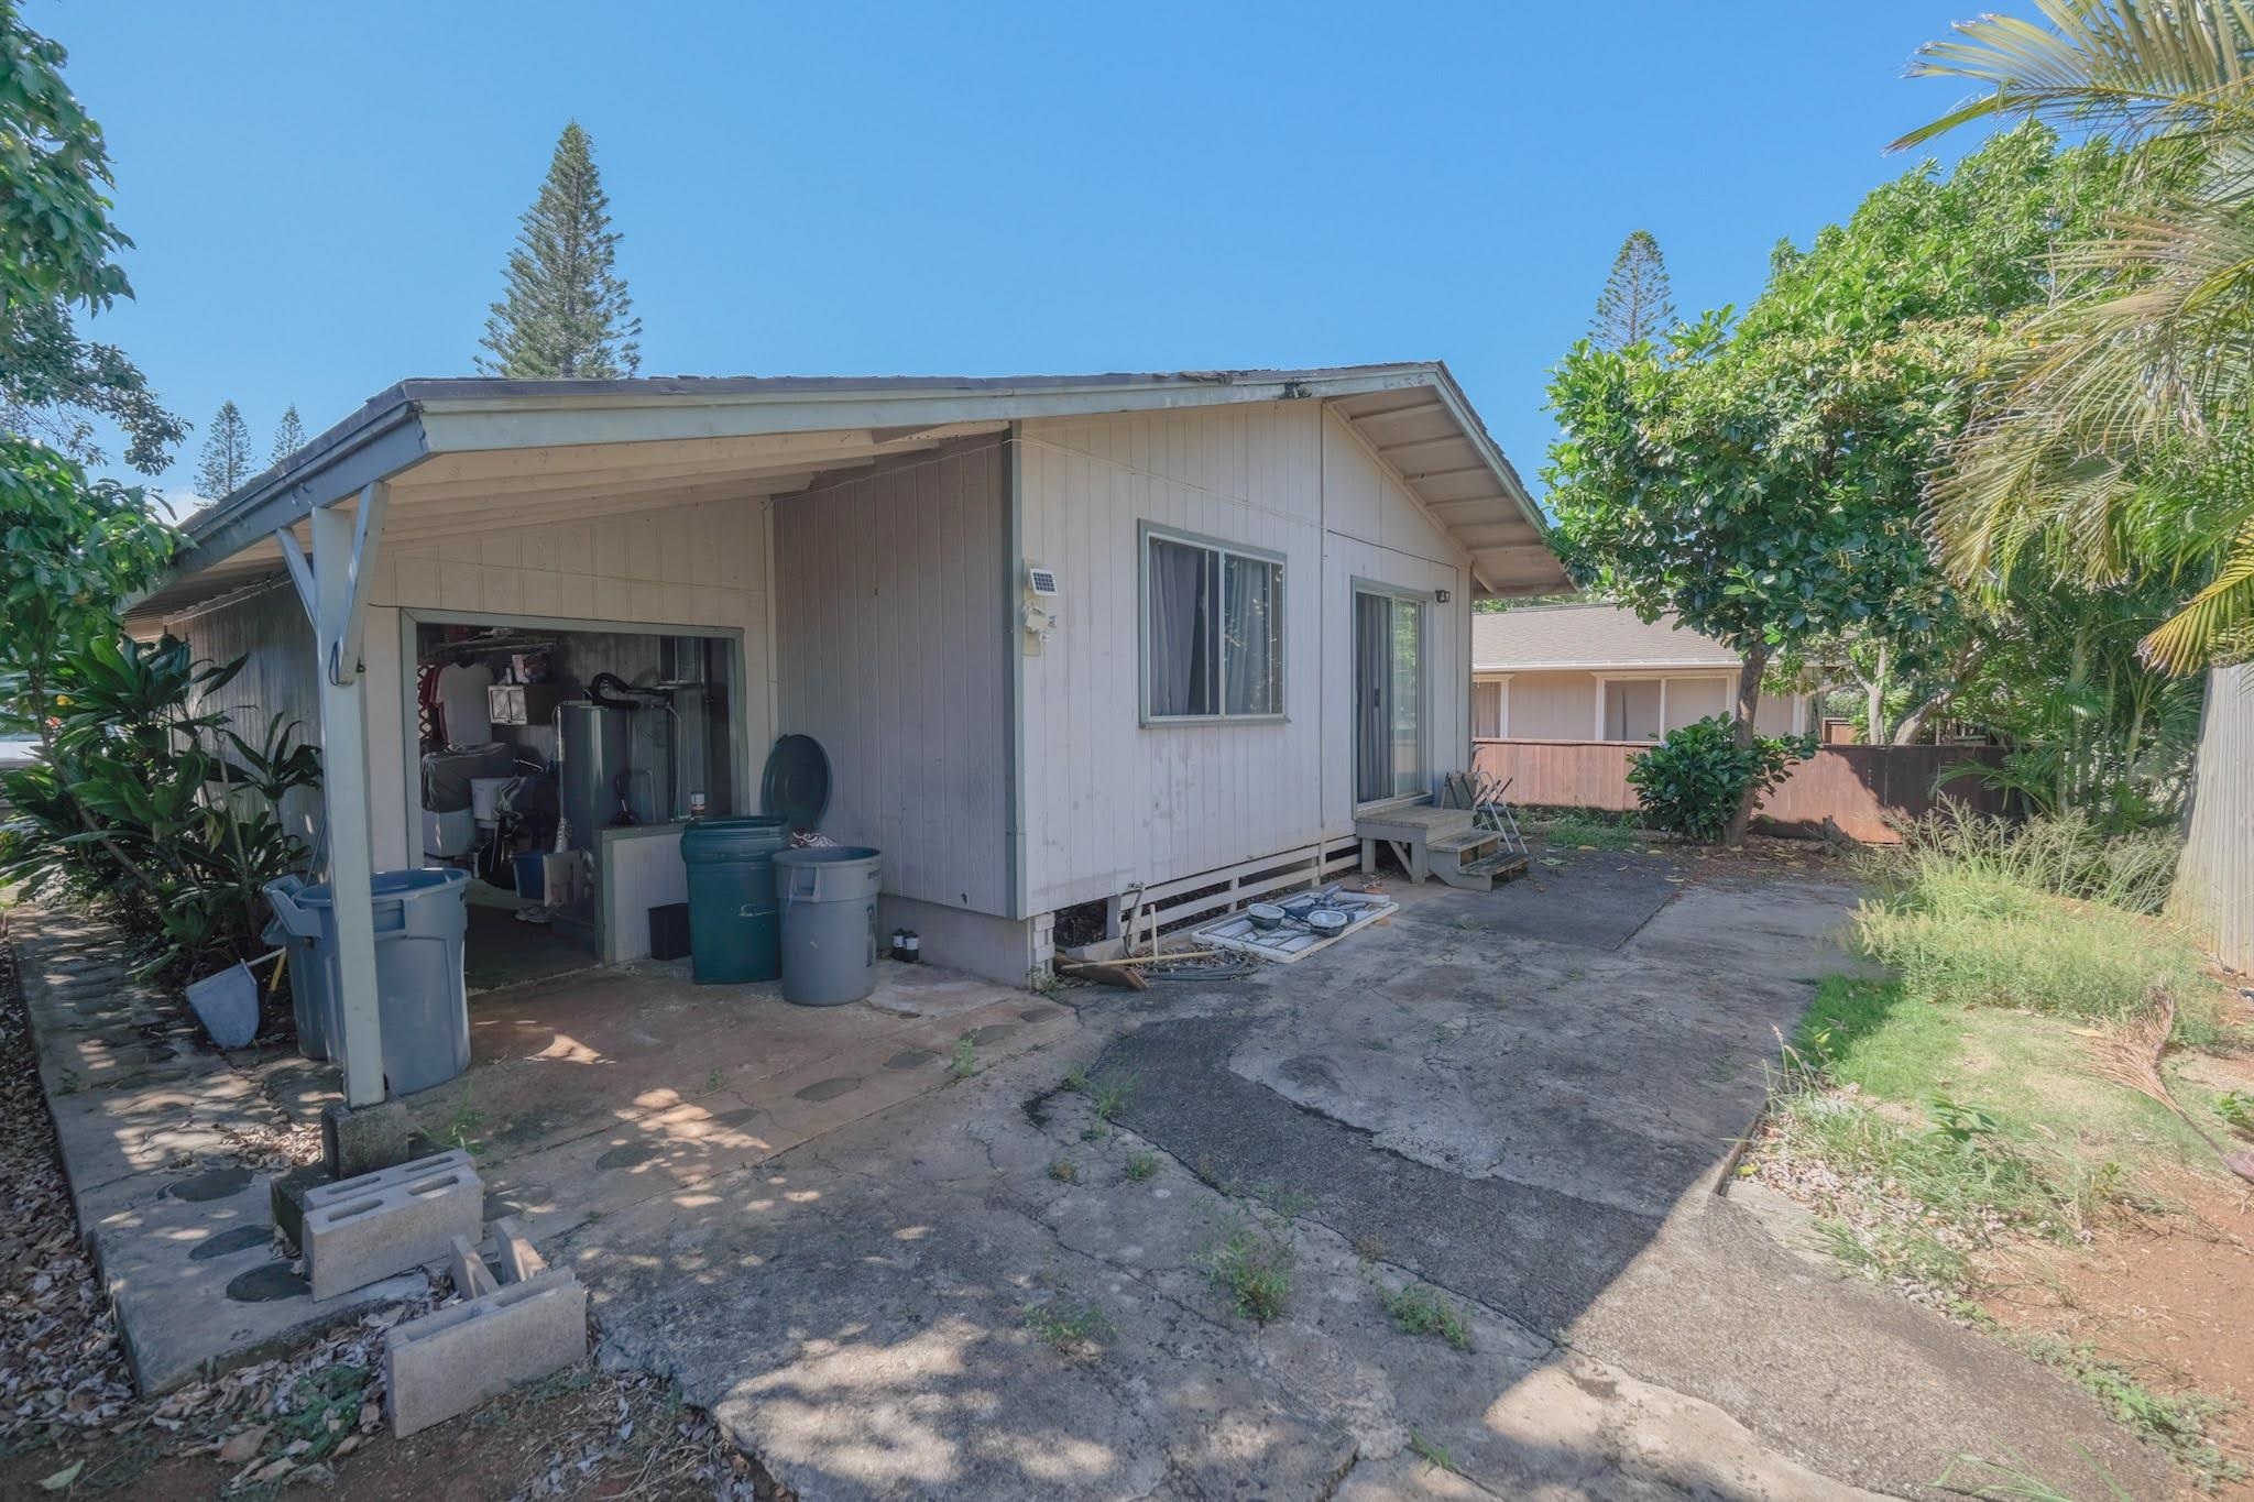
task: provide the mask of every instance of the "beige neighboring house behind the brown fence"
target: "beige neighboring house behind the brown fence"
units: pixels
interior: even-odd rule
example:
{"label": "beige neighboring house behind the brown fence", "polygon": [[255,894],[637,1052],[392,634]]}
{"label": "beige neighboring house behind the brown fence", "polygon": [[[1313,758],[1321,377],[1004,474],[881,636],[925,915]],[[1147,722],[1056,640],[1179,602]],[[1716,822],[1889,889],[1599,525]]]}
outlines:
{"label": "beige neighboring house behind the brown fence", "polygon": [[[1765,734],[1803,734],[1808,694],[1763,694]],[[1625,606],[1517,606],[1472,617],[1472,736],[1657,741],[1738,703],[1738,655],[1672,615]]]}

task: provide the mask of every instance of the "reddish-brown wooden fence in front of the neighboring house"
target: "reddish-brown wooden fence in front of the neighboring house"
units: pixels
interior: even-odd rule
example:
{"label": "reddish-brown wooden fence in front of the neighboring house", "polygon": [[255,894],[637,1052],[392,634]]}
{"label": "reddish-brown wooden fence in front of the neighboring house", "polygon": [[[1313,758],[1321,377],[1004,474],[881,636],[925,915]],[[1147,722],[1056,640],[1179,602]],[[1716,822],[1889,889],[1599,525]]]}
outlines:
{"label": "reddish-brown wooden fence in front of the neighboring house", "polygon": [[[1510,779],[1510,802],[1535,808],[1630,811],[1627,759],[1648,750],[1625,741],[1474,741],[1474,766]],[[1943,795],[1981,813],[2008,813],[2004,793],[1979,777],[1956,777],[1938,793],[1934,779],[1954,766],[2002,763],[1990,745],[1821,745],[1801,761],[1758,815],[1794,833],[1821,833],[1828,817],[1853,840],[1891,844],[1889,820],[1914,820]]]}

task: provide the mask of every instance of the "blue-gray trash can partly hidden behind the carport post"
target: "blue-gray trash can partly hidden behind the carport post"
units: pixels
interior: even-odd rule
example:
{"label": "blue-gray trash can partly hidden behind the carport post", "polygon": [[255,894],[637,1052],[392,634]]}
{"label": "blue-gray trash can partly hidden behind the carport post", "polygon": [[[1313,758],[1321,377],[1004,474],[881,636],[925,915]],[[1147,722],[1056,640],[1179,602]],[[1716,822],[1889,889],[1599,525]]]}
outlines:
{"label": "blue-gray trash can partly hidden behind the carport post", "polygon": [[[279,885],[279,883],[277,883]],[[469,1067],[469,989],[462,984],[462,937],[469,908],[462,903],[469,871],[419,869],[376,871],[376,1009],[383,1016],[383,1081],[390,1094],[415,1094],[444,1085]],[[313,914],[313,946],[327,986],[325,1043],[345,1061],[343,989],[336,966],[336,912],[327,883],[266,898]],[[284,917],[293,935],[302,919]]]}

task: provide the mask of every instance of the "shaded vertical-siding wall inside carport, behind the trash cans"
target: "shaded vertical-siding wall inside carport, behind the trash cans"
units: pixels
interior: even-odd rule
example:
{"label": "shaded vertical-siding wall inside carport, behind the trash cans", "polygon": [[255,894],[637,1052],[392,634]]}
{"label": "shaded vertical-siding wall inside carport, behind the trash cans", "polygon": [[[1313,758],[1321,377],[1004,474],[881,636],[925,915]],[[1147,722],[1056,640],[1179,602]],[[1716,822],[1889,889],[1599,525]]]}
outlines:
{"label": "shaded vertical-siding wall inside carport, behind the trash cans", "polygon": [[775,502],[778,732],[829,752],[825,833],[884,889],[1008,914],[1003,441]]}

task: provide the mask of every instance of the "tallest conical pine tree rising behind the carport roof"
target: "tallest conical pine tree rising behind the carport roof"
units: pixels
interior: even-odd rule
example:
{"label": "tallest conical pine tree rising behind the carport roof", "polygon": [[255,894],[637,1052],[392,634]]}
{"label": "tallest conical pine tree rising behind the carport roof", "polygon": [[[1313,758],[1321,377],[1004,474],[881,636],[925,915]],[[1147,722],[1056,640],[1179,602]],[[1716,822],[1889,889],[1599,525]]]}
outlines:
{"label": "tallest conical pine tree rising behind the carport roof", "polygon": [[618,232],[595,173],[595,144],[564,126],[541,196],[518,221],[509,290],[485,320],[487,376],[631,376],[642,365],[642,320],[613,268]]}

